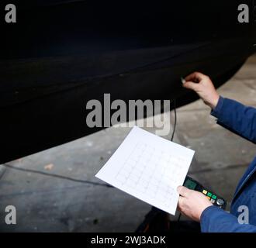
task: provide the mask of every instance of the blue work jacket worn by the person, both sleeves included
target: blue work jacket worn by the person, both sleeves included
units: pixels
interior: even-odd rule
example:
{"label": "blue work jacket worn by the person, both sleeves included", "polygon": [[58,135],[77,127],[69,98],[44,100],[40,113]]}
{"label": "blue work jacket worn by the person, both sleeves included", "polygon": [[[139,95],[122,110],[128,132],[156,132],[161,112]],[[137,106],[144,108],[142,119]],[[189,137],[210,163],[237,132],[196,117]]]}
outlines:
{"label": "blue work jacket worn by the person, both sleeves included", "polygon": [[[220,97],[211,114],[221,126],[256,143],[256,108]],[[244,223],[247,218],[249,223]],[[256,232],[256,157],[237,185],[230,213],[210,206],[202,212],[200,225],[202,232]]]}

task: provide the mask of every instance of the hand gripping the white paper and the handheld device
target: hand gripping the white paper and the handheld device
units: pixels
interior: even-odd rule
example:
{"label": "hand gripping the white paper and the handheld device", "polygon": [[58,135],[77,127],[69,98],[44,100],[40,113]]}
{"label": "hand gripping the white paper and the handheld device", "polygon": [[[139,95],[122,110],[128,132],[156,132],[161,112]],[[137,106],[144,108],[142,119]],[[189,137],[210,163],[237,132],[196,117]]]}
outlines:
{"label": "hand gripping the white paper and the handheld device", "polygon": [[177,191],[180,195],[178,198],[178,210],[196,222],[200,222],[202,212],[213,205],[206,198],[206,195],[199,191],[192,191],[183,186],[179,186]]}

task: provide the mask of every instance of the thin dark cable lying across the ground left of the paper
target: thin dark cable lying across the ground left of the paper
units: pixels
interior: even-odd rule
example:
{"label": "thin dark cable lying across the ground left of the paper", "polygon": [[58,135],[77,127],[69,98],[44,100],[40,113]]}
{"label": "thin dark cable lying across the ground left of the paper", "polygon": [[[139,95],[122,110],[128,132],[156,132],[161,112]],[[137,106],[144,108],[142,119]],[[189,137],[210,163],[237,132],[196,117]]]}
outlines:
{"label": "thin dark cable lying across the ground left of the paper", "polygon": [[2,164],[2,166],[7,167],[9,169],[12,170],[16,170],[16,171],[26,171],[26,172],[30,172],[30,173],[34,173],[34,174],[41,174],[43,176],[47,176],[47,177],[57,177],[57,178],[61,178],[64,180],[68,180],[68,181],[75,181],[77,183],[82,183],[82,184],[93,184],[96,186],[102,186],[102,187],[106,187],[106,188],[114,188],[112,185],[109,184],[101,184],[101,183],[97,183],[97,182],[93,182],[93,181],[87,181],[87,180],[81,180],[81,179],[76,179],[73,177],[66,177],[66,176],[62,176],[59,174],[50,174],[50,173],[46,173],[43,171],[36,171],[36,170],[31,170],[31,169],[25,169],[25,168],[19,168],[19,167],[15,167],[13,165],[10,164]]}

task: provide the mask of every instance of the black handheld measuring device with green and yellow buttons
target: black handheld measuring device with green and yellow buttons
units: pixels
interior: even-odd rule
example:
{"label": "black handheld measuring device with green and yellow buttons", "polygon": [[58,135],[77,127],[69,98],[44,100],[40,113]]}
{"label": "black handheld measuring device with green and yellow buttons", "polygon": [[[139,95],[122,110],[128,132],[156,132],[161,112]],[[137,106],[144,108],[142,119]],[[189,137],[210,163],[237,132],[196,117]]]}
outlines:
{"label": "black handheld measuring device with green and yellow buttons", "polygon": [[187,176],[185,178],[183,186],[194,191],[202,192],[202,194],[206,195],[206,198],[208,198],[209,201],[213,203],[213,205],[216,205],[219,208],[225,209],[227,206],[227,202],[223,198],[214,194],[213,191],[209,191],[207,188],[204,188],[202,184],[199,184],[198,181],[195,181],[191,177]]}

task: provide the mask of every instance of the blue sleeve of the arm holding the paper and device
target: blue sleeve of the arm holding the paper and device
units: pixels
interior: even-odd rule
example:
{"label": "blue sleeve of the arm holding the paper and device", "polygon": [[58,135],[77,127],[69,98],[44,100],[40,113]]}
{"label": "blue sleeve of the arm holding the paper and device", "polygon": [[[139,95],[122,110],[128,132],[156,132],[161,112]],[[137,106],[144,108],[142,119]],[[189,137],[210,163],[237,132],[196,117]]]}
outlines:
{"label": "blue sleeve of the arm holding the paper and device", "polygon": [[202,212],[200,225],[202,232],[256,232],[256,226],[240,224],[237,217],[216,206]]}

